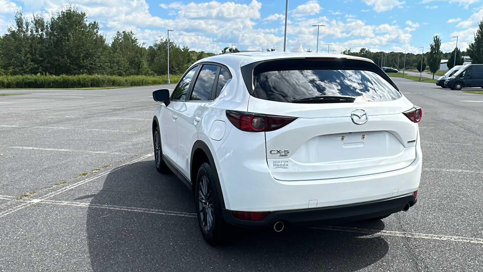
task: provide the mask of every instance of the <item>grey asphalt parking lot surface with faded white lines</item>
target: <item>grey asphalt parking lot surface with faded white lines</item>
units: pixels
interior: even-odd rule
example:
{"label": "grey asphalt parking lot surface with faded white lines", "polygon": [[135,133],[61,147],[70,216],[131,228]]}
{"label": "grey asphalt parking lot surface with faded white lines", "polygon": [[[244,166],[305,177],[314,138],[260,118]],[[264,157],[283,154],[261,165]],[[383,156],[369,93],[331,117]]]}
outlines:
{"label": "grey asphalt parking lot surface with faded white lines", "polygon": [[393,80],[423,108],[409,212],[218,247],[154,166],[151,95],[173,85],[1,91],[26,94],[0,96],[0,271],[483,271],[483,95]]}

